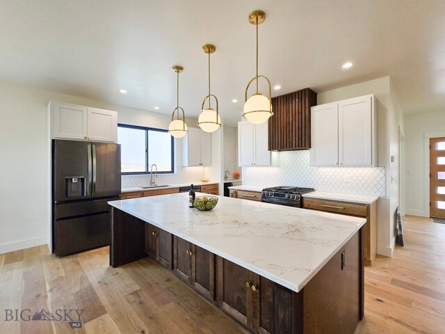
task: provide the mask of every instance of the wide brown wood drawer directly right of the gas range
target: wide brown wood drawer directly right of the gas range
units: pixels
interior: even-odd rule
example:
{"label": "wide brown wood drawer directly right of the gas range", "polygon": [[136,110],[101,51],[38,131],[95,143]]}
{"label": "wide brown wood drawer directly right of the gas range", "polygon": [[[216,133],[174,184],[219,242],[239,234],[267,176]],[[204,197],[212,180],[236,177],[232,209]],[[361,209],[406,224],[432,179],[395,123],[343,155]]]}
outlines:
{"label": "wide brown wood drawer directly right of the gas range", "polygon": [[318,200],[314,198],[303,198],[305,209],[333,212],[335,214],[350,214],[352,216],[366,217],[366,205],[341,202],[338,200]]}

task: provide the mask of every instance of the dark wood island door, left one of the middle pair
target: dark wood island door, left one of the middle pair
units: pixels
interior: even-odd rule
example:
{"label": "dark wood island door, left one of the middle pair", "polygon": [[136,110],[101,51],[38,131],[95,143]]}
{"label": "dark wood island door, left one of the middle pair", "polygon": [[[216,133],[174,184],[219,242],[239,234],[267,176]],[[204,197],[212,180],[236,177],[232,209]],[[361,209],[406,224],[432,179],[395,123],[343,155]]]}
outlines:
{"label": "dark wood island door, left one of the middle pair", "polygon": [[192,284],[193,245],[176,236],[173,238],[173,242],[173,266],[175,274],[184,282]]}

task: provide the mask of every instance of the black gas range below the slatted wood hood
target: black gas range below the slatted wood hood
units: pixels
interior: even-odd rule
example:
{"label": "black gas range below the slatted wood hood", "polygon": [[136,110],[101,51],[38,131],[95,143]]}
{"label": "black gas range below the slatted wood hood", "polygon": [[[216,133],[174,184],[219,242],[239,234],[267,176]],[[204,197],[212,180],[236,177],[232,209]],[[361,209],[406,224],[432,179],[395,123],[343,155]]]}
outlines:
{"label": "black gas range below the slatted wood hood", "polygon": [[261,202],[287,205],[288,207],[302,207],[303,193],[315,191],[314,188],[300,188],[298,186],[273,186],[261,192]]}

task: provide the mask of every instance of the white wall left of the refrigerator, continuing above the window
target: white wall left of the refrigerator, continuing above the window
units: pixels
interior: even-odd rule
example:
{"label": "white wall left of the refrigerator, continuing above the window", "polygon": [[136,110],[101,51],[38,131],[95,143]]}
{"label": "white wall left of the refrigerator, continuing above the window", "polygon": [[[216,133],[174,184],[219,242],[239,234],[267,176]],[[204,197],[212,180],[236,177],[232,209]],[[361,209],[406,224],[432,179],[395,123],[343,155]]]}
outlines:
{"label": "white wall left of the refrigerator, continuing above the window", "polygon": [[159,128],[170,122],[160,113],[0,83],[0,253],[47,243],[49,100],[118,111],[119,122]]}

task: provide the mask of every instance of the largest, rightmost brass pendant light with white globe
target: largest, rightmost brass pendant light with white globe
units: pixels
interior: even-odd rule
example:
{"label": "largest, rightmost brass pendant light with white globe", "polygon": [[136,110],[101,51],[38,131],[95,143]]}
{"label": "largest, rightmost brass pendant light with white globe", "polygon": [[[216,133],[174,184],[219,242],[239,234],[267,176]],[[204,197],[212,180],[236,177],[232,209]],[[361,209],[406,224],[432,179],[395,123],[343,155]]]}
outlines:
{"label": "largest, rightmost brass pendant light with white globe", "polygon": [[[258,24],[261,24],[266,19],[266,13],[262,10],[255,10],[249,15],[249,22],[257,27],[257,75],[249,81],[248,86],[245,88],[245,103],[243,110],[243,117],[251,123],[261,124],[266,122],[270,116],[273,115],[272,112],[272,88],[270,86],[270,81],[264,75],[258,75]],[[258,91],[258,79],[264,78],[269,85],[269,96],[266,97],[259,93]],[[257,93],[249,97],[248,99],[248,89],[253,81],[257,84]]]}

